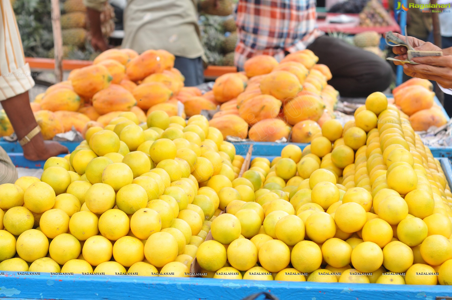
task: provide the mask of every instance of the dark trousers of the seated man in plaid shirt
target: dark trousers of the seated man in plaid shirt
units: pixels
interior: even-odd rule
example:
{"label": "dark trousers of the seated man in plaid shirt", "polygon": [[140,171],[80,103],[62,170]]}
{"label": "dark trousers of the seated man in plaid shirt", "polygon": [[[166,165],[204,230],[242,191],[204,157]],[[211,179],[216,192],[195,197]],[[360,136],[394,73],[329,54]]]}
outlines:
{"label": "dark trousers of the seated man in plaid shirt", "polygon": [[308,49],[328,66],[333,78],[328,81],[344,97],[367,97],[382,92],[393,80],[391,66],[377,55],[327,35],[317,38]]}

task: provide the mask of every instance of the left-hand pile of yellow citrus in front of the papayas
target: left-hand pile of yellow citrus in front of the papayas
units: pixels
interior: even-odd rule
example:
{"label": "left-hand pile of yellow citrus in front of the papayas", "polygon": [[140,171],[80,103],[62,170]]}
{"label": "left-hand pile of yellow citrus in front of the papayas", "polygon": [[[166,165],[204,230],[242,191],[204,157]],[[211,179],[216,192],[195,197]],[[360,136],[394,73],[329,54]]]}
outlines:
{"label": "left-hand pile of yellow citrus in front of the papayas", "polygon": [[187,277],[244,158],[201,115],[124,112],[85,137],[0,185],[0,270]]}

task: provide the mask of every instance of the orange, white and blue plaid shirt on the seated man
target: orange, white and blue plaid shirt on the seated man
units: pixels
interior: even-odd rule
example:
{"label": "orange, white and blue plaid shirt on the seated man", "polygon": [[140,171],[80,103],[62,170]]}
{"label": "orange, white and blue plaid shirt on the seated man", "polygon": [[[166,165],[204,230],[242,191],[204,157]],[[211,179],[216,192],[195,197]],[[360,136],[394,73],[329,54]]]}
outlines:
{"label": "orange, white and blue plaid shirt on the seated man", "polygon": [[239,0],[235,66],[259,54],[281,61],[287,52],[306,49],[323,32],[317,29],[315,0]]}

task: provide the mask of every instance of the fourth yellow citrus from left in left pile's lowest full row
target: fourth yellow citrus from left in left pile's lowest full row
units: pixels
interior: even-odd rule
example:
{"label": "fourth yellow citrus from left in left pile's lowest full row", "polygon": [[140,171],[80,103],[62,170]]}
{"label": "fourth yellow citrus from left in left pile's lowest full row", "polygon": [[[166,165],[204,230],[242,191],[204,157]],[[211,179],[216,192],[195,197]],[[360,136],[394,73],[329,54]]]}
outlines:
{"label": "fourth yellow citrus from left in left pile's lowest full row", "polygon": [[112,258],[113,245],[107,238],[101,235],[94,235],[85,241],[82,253],[83,258],[91,266],[98,266]]}

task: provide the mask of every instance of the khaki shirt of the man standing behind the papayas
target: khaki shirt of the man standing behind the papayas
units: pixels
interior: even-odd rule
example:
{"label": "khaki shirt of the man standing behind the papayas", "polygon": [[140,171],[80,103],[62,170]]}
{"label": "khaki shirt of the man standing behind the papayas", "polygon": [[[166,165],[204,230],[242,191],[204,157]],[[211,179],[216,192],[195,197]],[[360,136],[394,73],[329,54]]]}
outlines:
{"label": "khaki shirt of the man standing behind the papayas", "polygon": [[[105,1],[84,0],[84,4],[101,10]],[[138,53],[165,49],[176,56],[202,56],[197,1],[128,0],[124,10],[122,47]]]}

